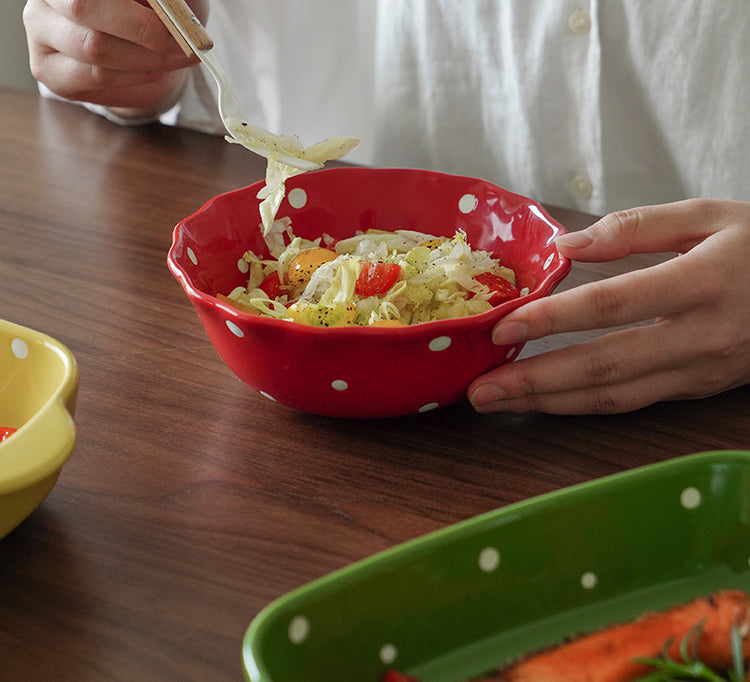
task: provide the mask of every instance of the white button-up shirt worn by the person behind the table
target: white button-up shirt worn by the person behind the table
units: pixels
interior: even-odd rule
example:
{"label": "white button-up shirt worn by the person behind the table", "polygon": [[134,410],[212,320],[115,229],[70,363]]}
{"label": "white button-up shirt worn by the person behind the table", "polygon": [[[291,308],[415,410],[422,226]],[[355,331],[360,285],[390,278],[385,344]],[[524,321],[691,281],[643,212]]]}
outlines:
{"label": "white button-up shirt worn by the person behind the table", "polygon": [[[363,135],[355,161],[597,214],[750,200],[746,0],[213,0],[207,27],[254,123]],[[222,130],[197,73],[176,123]]]}

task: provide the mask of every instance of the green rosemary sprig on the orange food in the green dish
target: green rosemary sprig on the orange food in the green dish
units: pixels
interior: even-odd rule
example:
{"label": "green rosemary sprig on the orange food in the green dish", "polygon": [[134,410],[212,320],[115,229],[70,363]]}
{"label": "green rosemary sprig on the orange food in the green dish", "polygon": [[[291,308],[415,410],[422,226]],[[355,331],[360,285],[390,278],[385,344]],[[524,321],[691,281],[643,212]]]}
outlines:
{"label": "green rosemary sprig on the orange food in the green dish", "polygon": [[742,635],[736,626],[732,627],[732,661],[733,668],[728,671],[728,677],[722,677],[711,670],[695,655],[698,640],[703,633],[703,621],[694,625],[680,642],[679,659],[668,654],[671,640],[664,644],[661,656],[653,658],[637,658],[636,662],[652,668],[637,682],[683,682],[686,680],[703,680],[704,682],[744,682],[745,662],[742,656]]}

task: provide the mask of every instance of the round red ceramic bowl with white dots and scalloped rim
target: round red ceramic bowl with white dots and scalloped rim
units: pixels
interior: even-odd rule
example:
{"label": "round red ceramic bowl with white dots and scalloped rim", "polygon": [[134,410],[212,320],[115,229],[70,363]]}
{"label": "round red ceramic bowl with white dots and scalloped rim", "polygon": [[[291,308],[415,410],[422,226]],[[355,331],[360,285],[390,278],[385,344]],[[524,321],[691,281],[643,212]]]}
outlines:
{"label": "round red ceramic bowl with white dots and scalloped rim", "polygon": [[469,383],[513,360],[521,346],[493,345],[493,325],[546,296],[570,269],[553,243],[564,230],[539,204],[474,178],[409,169],[334,168],[287,182],[278,217],[296,235],[412,229],[493,252],[530,293],[470,317],[408,327],[312,327],[242,313],[215,298],[246,284],[242,254],[267,255],[256,194],[263,182],[222,194],[174,230],[169,268],[221,357],[251,388],[314,414],[392,417],[465,396]]}

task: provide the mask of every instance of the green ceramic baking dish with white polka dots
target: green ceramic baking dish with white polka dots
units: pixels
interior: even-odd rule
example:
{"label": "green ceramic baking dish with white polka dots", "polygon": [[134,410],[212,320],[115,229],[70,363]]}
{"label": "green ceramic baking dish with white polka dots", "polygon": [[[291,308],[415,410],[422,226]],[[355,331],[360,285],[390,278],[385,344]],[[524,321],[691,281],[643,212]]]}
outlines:
{"label": "green ceramic baking dish with white polka dots", "polygon": [[719,588],[750,590],[750,452],[673,459],[504,507],[266,607],[252,682],[457,682]]}

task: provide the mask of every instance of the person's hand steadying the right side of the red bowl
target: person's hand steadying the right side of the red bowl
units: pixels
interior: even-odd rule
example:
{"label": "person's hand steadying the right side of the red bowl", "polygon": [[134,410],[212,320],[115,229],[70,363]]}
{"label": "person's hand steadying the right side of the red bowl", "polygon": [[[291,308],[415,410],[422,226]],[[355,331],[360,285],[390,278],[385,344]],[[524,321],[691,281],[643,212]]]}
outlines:
{"label": "person's hand steadying the right side of the red bowl", "polygon": [[653,321],[488,372],[468,389],[477,411],[626,412],[750,382],[750,203],[693,199],[636,208],[557,244],[578,261],[681,255],[503,318],[493,330],[498,345]]}

